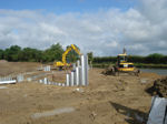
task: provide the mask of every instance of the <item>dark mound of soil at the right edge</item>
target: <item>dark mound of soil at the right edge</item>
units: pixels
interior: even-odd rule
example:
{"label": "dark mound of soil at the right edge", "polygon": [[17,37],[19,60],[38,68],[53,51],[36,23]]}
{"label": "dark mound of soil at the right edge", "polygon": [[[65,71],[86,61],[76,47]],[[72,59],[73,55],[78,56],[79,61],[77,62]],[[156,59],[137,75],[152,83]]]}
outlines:
{"label": "dark mound of soil at the right edge", "polygon": [[161,97],[167,97],[167,76],[155,80],[154,85],[147,91],[153,95],[159,95]]}

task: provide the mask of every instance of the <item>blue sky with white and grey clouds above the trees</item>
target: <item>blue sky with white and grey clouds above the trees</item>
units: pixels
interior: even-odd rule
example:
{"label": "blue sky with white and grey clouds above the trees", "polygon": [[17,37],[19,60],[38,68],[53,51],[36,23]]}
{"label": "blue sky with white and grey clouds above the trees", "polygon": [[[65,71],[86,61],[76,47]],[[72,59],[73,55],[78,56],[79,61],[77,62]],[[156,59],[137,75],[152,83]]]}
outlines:
{"label": "blue sky with white and grey clouds above the trees", "polygon": [[0,49],[63,49],[96,56],[167,54],[167,0],[0,0]]}

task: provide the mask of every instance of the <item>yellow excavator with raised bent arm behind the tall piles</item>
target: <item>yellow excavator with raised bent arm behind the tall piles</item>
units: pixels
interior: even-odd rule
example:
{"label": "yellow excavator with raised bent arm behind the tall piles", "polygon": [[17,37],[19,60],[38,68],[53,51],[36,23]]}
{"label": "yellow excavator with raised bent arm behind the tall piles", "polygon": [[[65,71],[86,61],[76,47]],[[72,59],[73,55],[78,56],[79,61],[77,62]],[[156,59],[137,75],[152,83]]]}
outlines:
{"label": "yellow excavator with raised bent arm behind the tall piles", "polygon": [[60,62],[60,61],[59,61],[59,62],[55,62],[55,63],[53,63],[53,66],[59,68],[60,70],[71,66],[71,64],[67,63],[67,61],[66,61],[66,56],[67,56],[67,54],[68,54],[71,50],[75,50],[76,53],[78,53],[79,55],[81,55],[81,53],[80,53],[80,51],[78,50],[78,48],[75,46],[75,44],[71,44],[71,45],[63,52],[63,54],[62,54],[62,62]]}

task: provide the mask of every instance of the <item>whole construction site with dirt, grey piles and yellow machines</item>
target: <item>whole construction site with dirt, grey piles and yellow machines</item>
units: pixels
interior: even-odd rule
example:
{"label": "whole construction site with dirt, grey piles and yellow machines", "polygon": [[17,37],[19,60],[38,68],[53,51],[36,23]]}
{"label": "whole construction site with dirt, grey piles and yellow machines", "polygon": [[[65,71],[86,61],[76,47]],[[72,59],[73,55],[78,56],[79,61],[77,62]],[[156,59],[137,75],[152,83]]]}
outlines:
{"label": "whole construction site with dirt, grey piles and yellow machines", "polygon": [[53,65],[0,61],[0,124],[146,124],[151,97],[167,96],[167,78],[134,69],[126,52],[106,70],[80,55],[70,69],[63,55]]}

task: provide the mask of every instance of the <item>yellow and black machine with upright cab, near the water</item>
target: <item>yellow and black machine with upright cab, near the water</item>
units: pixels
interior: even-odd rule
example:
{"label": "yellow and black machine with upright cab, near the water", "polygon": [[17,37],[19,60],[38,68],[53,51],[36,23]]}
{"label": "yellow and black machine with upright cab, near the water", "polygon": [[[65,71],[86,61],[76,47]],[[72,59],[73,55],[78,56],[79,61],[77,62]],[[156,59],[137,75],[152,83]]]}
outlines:
{"label": "yellow and black machine with upright cab, near the water", "polygon": [[134,63],[128,62],[127,53],[126,50],[124,49],[124,53],[117,55],[117,63],[115,65],[110,65],[102,73],[114,74],[114,75],[119,75],[119,73],[129,73],[129,74],[138,75],[139,72],[140,71],[134,66]]}

